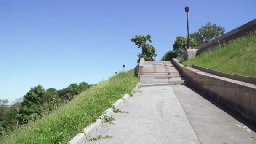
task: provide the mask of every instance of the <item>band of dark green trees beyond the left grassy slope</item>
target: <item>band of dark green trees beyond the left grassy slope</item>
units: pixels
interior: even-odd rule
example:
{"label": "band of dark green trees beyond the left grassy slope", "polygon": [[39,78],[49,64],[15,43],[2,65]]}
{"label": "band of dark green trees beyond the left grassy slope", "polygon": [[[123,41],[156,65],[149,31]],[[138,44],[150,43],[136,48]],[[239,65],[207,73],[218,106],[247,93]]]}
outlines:
{"label": "band of dark green trees beyond the left grassy slope", "polygon": [[11,107],[6,107],[9,102],[7,99],[0,99],[0,136],[8,134],[19,125],[41,117],[43,113],[53,111],[92,85],[86,82],[73,83],[60,90],[56,88],[45,90],[42,85],[37,85],[30,88],[23,97],[15,99]]}

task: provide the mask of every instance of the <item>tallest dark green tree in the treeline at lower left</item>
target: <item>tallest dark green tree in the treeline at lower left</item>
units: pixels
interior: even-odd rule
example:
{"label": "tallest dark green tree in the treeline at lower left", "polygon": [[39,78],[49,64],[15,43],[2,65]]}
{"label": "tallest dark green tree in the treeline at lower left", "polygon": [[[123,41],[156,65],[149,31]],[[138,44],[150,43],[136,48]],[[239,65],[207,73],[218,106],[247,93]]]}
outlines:
{"label": "tallest dark green tree in the treeline at lower left", "polygon": [[19,120],[26,123],[29,120],[34,120],[41,115],[42,101],[41,98],[45,93],[45,89],[42,85],[37,85],[24,95],[21,114],[19,114]]}

